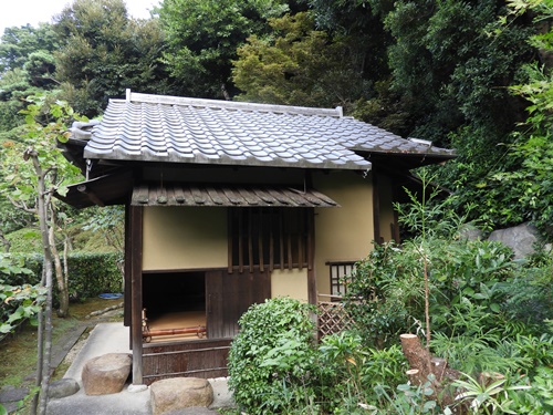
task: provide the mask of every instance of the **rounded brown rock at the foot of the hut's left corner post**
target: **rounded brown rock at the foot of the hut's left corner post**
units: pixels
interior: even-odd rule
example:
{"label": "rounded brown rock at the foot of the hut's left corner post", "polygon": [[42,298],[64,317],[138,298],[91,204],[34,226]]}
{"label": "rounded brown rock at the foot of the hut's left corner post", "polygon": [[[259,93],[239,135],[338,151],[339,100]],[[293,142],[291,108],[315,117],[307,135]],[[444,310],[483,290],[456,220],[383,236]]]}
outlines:
{"label": "rounded brown rock at the foot of the hut's left corner post", "polygon": [[132,359],[128,353],[107,353],[91,359],[84,364],[82,380],[86,395],[118,393],[131,373]]}

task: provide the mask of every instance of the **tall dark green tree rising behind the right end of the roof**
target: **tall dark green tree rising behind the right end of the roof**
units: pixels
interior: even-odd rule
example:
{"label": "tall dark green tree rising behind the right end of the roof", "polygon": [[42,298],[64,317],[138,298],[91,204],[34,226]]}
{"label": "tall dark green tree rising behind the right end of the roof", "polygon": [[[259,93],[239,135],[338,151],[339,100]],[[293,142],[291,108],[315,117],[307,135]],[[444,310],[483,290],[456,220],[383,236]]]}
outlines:
{"label": "tall dark green tree rising behind the right end of the roof", "polygon": [[459,212],[476,203],[469,219],[489,228],[525,220],[517,193],[488,179],[520,169],[522,158],[507,154],[525,104],[509,86],[538,56],[525,41],[533,29],[528,15],[502,27],[505,13],[495,0],[397,2],[385,15],[395,40],[389,90],[361,106],[404,136],[455,147],[458,158],[438,169],[439,181],[455,193]]}

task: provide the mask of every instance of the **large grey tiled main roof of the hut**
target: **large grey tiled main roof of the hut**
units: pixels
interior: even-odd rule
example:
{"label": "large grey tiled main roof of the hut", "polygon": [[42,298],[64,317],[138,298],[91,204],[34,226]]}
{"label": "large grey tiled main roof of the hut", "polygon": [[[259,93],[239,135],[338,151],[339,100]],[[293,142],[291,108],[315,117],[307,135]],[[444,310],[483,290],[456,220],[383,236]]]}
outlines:
{"label": "large grey tiled main roof of the hut", "polygon": [[355,152],[450,156],[322,110],[127,92],[94,126],[84,157],[111,160],[368,169]]}

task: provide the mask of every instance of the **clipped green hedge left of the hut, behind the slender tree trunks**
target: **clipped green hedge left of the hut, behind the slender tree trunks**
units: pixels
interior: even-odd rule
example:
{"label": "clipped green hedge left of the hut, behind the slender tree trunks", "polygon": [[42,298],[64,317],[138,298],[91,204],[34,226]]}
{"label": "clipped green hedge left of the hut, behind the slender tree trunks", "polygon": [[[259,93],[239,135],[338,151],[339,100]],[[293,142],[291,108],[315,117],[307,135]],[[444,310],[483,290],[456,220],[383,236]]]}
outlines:
{"label": "clipped green hedge left of the hut, behind the slender tree trunks", "polygon": [[[24,267],[33,271],[31,276],[1,276],[0,278],[12,286],[21,286],[23,283],[38,284],[42,276],[42,256],[25,255],[24,257]],[[123,276],[117,269],[118,260],[121,260],[121,255],[115,252],[70,253],[67,266],[71,300],[84,300],[103,292],[122,292]],[[54,290],[54,301],[55,298],[56,293]]]}

